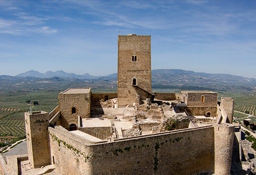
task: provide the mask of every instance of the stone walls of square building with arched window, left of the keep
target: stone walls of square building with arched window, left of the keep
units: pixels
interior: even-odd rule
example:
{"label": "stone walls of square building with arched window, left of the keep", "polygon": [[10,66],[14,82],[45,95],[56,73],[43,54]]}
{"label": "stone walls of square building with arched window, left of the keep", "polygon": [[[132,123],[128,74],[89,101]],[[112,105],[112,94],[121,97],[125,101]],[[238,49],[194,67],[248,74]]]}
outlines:
{"label": "stone walls of square building with arched window, left of the keep", "polygon": [[[91,95],[83,94],[59,94],[59,108],[61,113],[61,125],[65,128],[74,123],[77,125],[77,116],[81,118],[90,117]],[[72,114],[72,108],[76,112]]]}

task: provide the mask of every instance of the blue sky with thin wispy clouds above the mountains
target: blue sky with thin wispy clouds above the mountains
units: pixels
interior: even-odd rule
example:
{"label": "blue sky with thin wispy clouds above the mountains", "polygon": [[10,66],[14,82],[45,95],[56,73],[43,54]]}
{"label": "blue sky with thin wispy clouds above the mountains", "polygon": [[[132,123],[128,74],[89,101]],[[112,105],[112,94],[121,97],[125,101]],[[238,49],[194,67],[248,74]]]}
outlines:
{"label": "blue sky with thin wispy clouds above the mountains", "polygon": [[256,78],[256,1],[0,0],[0,75],[117,72],[117,36],[151,35],[152,69]]}

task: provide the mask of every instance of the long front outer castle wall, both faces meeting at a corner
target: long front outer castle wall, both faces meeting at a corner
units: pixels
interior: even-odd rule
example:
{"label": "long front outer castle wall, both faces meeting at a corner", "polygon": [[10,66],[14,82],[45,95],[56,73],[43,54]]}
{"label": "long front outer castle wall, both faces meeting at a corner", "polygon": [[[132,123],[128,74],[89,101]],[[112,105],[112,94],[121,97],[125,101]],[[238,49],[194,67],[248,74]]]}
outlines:
{"label": "long front outer castle wall, both faces meeting at a corner", "polygon": [[214,172],[213,126],[98,144],[74,137],[61,126],[49,127],[49,135],[52,161],[62,174]]}

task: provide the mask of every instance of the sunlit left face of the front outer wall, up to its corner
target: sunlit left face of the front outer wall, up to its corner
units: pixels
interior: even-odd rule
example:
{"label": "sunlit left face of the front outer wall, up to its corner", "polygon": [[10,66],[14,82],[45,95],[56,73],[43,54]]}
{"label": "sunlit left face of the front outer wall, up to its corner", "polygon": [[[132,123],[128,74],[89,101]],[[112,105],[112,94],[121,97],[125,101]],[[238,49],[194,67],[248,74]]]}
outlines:
{"label": "sunlit left face of the front outer wall, up to its corner", "polygon": [[65,175],[92,174],[92,142],[68,132],[61,126],[49,127],[51,163]]}

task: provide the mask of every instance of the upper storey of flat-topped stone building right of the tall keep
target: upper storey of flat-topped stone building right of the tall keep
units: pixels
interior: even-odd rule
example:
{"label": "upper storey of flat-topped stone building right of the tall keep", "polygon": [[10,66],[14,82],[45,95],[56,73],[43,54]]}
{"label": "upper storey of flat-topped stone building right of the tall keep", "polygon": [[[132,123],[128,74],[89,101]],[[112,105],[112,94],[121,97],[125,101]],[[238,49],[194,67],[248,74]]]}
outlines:
{"label": "upper storey of flat-topped stone building right of the tall keep", "polygon": [[[202,96],[203,102],[202,102]],[[187,106],[216,106],[218,103],[218,93],[216,92],[190,92],[181,91],[181,100]]]}

